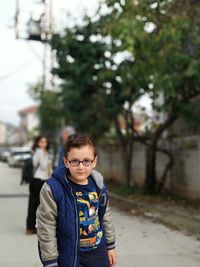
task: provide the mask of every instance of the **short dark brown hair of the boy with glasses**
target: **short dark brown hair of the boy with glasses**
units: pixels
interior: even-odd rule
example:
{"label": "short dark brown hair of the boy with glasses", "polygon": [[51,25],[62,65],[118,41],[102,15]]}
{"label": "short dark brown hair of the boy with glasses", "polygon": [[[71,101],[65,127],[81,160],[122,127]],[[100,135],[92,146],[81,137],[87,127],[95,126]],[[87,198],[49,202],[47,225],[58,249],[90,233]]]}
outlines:
{"label": "short dark brown hair of the boy with glasses", "polygon": [[67,157],[69,151],[72,148],[80,148],[83,146],[91,146],[94,150],[94,156],[96,157],[96,146],[89,134],[75,133],[69,136],[65,144],[64,156]]}

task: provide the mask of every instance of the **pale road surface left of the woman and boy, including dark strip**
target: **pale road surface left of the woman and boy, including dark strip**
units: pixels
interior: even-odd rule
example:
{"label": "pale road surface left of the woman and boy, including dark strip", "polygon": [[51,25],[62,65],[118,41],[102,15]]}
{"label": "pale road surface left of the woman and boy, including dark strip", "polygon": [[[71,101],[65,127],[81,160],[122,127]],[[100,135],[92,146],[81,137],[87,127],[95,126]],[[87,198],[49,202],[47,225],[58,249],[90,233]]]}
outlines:
{"label": "pale road surface left of the woman and boy, including dark strip", "polygon": [[25,235],[28,186],[20,169],[0,163],[0,266],[41,267],[36,236]]}

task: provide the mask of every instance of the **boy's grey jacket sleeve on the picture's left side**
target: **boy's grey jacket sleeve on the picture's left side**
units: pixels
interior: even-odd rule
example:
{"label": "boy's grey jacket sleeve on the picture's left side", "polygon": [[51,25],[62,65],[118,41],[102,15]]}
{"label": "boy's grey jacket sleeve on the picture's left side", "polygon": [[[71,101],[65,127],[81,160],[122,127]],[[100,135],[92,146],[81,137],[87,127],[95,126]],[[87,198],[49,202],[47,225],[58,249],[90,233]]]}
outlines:
{"label": "boy's grey jacket sleeve on the picture's left side", "polygon": [[40,192],[40,205],[36,217],[41,260],[45,267],[56,267],[58,257],[56,239],[57,205],[47,183],[44,183]]}

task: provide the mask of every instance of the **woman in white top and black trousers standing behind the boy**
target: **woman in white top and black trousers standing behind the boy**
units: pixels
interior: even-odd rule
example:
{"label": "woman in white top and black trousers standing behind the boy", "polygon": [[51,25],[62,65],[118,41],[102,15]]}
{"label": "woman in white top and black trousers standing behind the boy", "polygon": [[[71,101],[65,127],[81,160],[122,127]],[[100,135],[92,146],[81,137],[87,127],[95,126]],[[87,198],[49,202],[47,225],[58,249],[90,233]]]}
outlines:
{"label": "woman in white top and black trousers standing behind the boy", "polygon": [[32,151],[34,167],[33,178],[29,185],[28,215],[26,221],[26,234],[36,234],[36,210],[39,205],[39,194],[45,180],[51,175],[51,163],[48,155],[49,142],[44,135],[35,138]]}

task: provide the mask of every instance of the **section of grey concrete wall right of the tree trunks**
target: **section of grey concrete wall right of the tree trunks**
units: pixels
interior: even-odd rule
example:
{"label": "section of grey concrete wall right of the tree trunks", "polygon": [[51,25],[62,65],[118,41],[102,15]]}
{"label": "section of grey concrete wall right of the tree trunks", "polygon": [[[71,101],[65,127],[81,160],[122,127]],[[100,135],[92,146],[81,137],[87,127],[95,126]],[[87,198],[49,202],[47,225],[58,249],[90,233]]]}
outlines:
{"label": "section of grey concrete wall right of the tree trunks", "polygon": [[200,137],[173,140],[175,164],[171,172],[174,194],[200,199]]}

